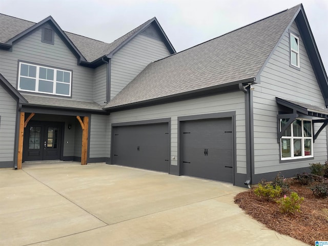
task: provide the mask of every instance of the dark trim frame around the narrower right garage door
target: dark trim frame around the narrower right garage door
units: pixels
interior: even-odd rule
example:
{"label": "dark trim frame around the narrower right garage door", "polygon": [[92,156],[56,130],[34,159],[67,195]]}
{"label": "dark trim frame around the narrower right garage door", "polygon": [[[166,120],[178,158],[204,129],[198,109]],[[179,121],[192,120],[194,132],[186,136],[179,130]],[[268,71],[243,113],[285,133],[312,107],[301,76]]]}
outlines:
{"label": "dark trim frame around the narrower right garage door", "polygon": [[[232,151],[233,151],[233,155],[232,155],[232,164],[233,164],[233,184],[235,185],[235,183],[239,183],[239,180],[236,180],[236,170],[237,170],[237,157],[236,157],[236,112],[235,111],[231,111],[231,112],[222,112],[222,113],[212,113],[212,114],[200,114],[200,115],[189,115],[189,116],[180,116],[178,117],[178,158],[177,158],[177,162],[178,162],[178,166],[176,166],[175,171],[178,170],[178,175],[182,175],[183,174],[183,170],[182,170],[182,155],[183,155],[183,151],[182,151],[182,124],[183,122],[186,121],[193,121],[193,120],[207,120],[207,119],[220,119],[220,118],[231,118],[232,121]],[[238,176],[239,177],[239,176]],[[241,182],[244,182],[244,180],[240,180]]]}

